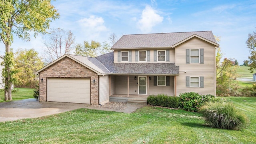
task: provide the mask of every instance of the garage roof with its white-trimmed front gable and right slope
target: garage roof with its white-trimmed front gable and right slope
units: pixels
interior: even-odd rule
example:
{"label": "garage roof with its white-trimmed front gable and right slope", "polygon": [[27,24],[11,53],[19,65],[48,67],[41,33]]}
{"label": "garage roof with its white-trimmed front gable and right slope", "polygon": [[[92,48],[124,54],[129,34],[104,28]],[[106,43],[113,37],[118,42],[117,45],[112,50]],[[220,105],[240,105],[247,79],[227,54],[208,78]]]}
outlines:
{"label": "garage roof with its white-trimmed front gable and right slope", "polygon": [[68,57],[79,64],[85,66],[86,68],[89,68],[93,72],[97,73],[98,75],[102,74],[110,74],[110,71],[105,68],[96,58],[91,58],[91,57],[86,57],[86,56],[76,56],[76,55],[71,55],[71,54],[65,54],[61,56],[60,58],[54,60],[50,64],[44,66],[40,70],[36,71],[35,73],[38,74],[39,72],[42,72],[46,68],[52,66],[53,64],[57,63],[58,61],[62,60],[63,58]]}

